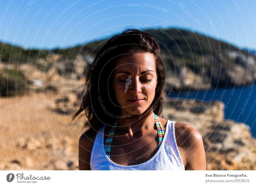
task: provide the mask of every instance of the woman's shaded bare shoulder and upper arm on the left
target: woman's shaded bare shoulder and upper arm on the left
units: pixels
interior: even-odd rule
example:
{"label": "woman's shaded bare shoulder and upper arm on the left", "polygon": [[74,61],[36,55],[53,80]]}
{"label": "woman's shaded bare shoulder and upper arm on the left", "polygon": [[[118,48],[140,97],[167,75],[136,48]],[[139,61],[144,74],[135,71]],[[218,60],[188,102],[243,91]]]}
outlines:
{"label": "woman's shaded bare shoulder and upper arm on the left", "polygon": [[96,134],[95,130],[88,129],[79,138],[79,170],[91,170],[90,159]]}

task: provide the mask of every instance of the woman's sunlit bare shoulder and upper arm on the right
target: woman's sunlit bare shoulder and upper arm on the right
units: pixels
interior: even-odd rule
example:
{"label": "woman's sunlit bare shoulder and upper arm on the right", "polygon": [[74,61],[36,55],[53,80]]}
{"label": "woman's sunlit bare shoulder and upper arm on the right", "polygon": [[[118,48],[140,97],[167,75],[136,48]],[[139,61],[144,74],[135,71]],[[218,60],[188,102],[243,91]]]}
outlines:
{"label": "woman's sunlit bare shoulder and upper arm on the right", "polygon": [[200,133],[185,123],[175,123],[175,137],[186,170],[206,170],[203,139]]}

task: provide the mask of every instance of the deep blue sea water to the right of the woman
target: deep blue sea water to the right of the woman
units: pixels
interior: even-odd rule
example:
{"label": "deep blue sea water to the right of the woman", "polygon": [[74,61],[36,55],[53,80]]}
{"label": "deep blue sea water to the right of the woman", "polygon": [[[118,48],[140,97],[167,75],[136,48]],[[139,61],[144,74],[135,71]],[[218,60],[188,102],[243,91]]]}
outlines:
{"label": "deep blue sea water to the right of the woman", "polygon": [[[170,97],[201,100],[205,96],[205,90],[182,93],[172,92]],[[249,125],[251,127],[252,136],[256,137],[256,89],[254,90],[253,86],[211,89],[206,92],[204,101],[220,99],[225,104],[225,119],[232,119]]]}

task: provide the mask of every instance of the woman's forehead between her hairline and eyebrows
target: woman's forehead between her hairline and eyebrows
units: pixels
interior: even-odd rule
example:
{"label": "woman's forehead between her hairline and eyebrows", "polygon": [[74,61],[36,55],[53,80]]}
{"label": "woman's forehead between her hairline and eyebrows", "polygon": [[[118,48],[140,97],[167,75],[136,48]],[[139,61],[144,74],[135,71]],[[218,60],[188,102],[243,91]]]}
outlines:
{"label": "woman's forehead between her hairline and eyebrows", "polygon": [[117,58],[115,71],[120,69],[133,70],[154,70],[155,56],[151,53],[125,54]]}

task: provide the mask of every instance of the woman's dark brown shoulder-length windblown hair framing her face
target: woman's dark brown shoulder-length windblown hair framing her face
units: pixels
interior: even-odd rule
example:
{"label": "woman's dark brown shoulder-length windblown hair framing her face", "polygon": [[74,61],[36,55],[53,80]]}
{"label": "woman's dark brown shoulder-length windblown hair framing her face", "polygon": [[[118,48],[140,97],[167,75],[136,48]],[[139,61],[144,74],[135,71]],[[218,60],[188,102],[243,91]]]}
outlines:
{"label": "woman's dark brown shoulder-length windblown hair framing her face", "polygon": [[84,127],[93,128],[95,131],[99,131],[104,124],[112,126],[118,120],[116,116],[121,113],[110,83],[115,61],[120,55],[145,52],[152,53],[156,59],[156,93],[152,104],[145,112],[129,119],[144,120],[152,110],[157,115],[161,114],[165,68],[159,55],[160,47],[151,35],[137,29],[126,29],[123,33],[112,36],[94,58],[81,94],[83,95],[81,106],[73,115],[73,120],[79,115],[80,117],[85,115],[88,120]]}

